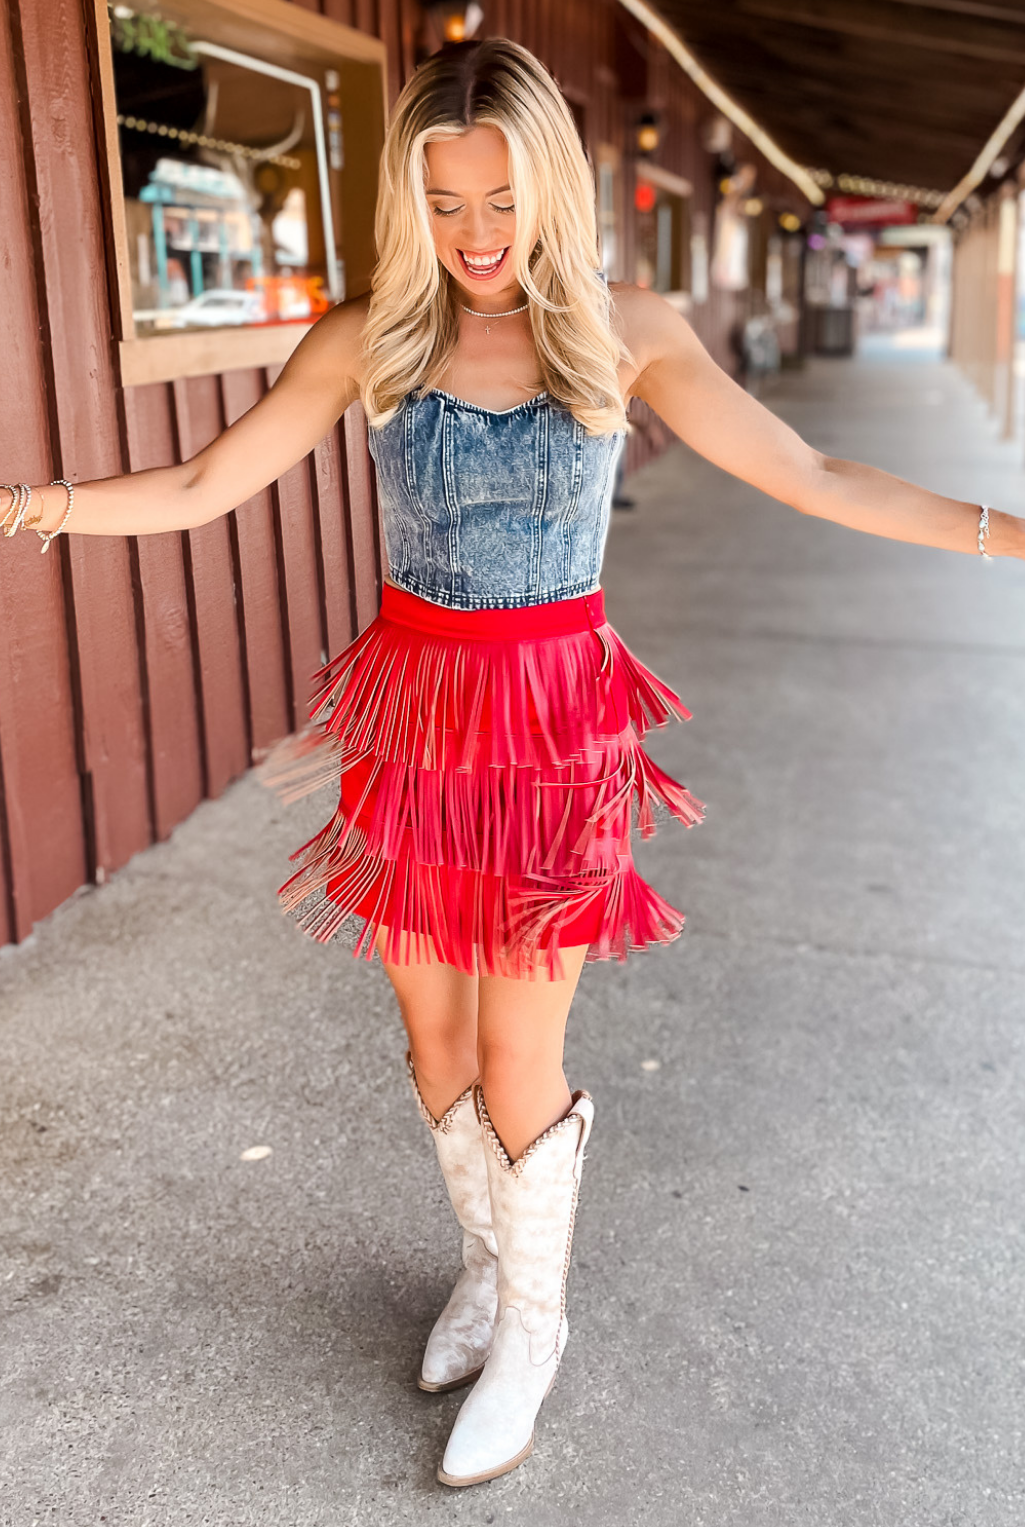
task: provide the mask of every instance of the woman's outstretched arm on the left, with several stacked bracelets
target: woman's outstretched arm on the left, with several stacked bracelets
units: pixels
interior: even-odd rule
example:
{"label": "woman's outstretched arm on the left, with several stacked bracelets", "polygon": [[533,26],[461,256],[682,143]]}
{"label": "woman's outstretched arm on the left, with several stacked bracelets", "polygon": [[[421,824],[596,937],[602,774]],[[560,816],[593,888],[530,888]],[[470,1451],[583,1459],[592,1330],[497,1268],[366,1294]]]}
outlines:
{"label": "woman's outstretched arm on the left, with several stacked bracelets", "polygon": [[[359,350],[368,295],[330,308],[289,356],[260,402],[209,446],[174,467],[75,484],[66,531],[86,536],[147,536],[191,530],[218,519],[301,461],[359,397]],[[34,487],[29,518],[41,505],[40,531],[60,525],[63,487]],[[3,495],[0,518],[11,502]]]}

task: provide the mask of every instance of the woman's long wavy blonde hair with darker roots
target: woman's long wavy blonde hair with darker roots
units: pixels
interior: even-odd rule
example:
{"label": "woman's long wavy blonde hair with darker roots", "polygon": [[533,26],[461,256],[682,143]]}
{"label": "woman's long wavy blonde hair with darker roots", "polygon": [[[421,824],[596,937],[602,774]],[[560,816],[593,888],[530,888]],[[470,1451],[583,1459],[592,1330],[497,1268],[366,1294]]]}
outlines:
{"label": "woman's long wavy blonde hair with darker roots", "polygon": [[509,145],[516,205],[509,264],[530,302],[542,386],[588,434],[629,432],[617,365],[632,357],[613,331],[613,293],[596,269],[594,177],[555,79],[507,37],[446,44],[396,101],[380,156],[377,264],[364,324],[368,423],[386,425],[406,392],[437,386],[455,350],[458,286],[434,246],[423,150],[483,125],[496,127]]}

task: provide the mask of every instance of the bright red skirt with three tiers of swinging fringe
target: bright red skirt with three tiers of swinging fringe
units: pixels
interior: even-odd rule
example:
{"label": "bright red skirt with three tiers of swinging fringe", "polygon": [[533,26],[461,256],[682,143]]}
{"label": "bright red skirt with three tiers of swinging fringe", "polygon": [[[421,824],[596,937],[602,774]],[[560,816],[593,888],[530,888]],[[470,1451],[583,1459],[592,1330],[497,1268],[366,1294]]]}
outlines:
{"label": "bright red skirt with three tiers of swinging fringe", "polygon": [[[683,701],[605,620],[600,592],[458,611],[390,583],[380,614],[313,675],[309,725],[260,765],[286,800],[338,808],[296,849],[281,907],[319,941],[469,974],[562,974],[561,948],[625,959],[683,930],[634,866],[660,803],[704,806],[640,747]],[[351,924],[350,924],[351,927]]]}

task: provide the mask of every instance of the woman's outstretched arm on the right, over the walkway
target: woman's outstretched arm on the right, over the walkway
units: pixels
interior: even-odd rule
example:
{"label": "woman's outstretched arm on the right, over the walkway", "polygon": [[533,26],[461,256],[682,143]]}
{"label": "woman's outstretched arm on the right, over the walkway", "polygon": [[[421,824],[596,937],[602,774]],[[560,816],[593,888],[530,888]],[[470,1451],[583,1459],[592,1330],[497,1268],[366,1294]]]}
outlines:
{"label": "woman's outstretched arm on the right, over the walkway", "polygon": [[[738,386],[661,296],[628,287],[617,292],[617,301],[626,310],[625,337],[642,366],[632,394],[700,455],[802,515],[978,556],[979,504],[822,455]],[[1025,559],[1025,519],[991,510],[985,550],[993,557]]]}

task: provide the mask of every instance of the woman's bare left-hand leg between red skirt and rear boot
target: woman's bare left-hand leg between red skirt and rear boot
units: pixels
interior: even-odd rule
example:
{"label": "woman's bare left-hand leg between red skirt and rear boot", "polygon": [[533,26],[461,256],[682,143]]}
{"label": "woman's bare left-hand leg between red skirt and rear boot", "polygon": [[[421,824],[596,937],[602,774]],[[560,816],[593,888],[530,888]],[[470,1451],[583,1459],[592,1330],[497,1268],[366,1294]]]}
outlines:
{"label": "woman's bare left-hand leg between red skirt and rear boot", "polygon": [[[383,950],[388,930],[377,935]],[[443,965],[428,942],[429,959],[415,965],[385,964],[409,1037],[420,1096],[435,1119],[477,1080],[477,976]]]}

